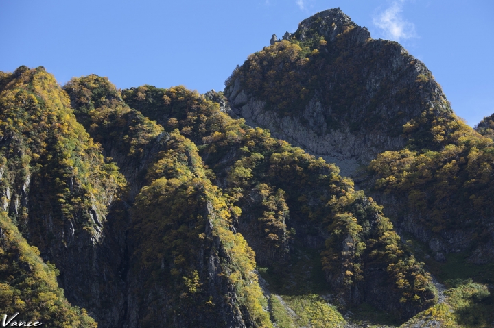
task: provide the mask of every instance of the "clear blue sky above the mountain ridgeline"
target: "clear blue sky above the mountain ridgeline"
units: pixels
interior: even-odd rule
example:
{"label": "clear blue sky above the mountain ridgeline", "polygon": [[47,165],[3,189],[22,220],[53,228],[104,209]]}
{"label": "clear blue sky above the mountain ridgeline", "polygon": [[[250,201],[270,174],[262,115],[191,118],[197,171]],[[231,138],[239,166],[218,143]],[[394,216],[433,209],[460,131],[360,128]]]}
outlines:
{"label": "clear blue sky above the mountain ridgeline", "polygon": [[222,90],[273,33],[335,7],[425,62],[469,125],[494,112],[493,0],[0,0],[0,71]]}

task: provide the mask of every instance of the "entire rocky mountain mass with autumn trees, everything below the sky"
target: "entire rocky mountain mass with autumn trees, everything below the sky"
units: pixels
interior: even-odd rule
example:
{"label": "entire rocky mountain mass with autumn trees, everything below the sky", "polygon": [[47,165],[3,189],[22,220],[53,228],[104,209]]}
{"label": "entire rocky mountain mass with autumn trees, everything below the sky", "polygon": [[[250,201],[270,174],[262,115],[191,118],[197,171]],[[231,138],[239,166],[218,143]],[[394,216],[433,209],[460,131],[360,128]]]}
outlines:
{"label": "entire rocky mountain mass with autumn trees, everything below the sky", "polygon": [[493,116],[339,8],[269,43],[206,94],[0,72],[5,320],[492,327]]}

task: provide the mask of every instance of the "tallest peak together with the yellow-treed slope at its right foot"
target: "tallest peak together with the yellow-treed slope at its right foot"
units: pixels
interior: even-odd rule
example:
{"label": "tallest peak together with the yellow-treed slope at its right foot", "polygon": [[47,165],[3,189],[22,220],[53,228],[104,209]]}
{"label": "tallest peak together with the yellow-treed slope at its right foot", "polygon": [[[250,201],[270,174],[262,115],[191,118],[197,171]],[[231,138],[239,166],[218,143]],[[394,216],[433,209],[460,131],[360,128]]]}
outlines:
{"label": "tallest peak together with the yellow-treed slope at its right foot", "polygon": [[[224,94],[235,114],[357,177],[428,256],[493,262],[492,139],[455,116],[430,71],[397,42],[326,10],[250,55]],[[478,131],[489,134],[489,124]]]}

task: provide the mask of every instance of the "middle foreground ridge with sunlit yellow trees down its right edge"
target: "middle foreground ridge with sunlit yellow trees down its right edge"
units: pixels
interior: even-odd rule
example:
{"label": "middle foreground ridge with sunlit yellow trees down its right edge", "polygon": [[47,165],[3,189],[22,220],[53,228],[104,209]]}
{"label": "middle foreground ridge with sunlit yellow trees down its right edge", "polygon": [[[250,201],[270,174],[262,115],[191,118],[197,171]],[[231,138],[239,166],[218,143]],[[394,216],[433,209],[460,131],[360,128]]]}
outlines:
{"label": "middle foreground ridge with sunlit yellow trees down its right edge", "polygon": [[231,231],[239,209],[211,184],[196,146],[129,108],[108,79],[90,75],[64,88],[78,120],[129,181],[121,325],[272,327],[254,253]]}

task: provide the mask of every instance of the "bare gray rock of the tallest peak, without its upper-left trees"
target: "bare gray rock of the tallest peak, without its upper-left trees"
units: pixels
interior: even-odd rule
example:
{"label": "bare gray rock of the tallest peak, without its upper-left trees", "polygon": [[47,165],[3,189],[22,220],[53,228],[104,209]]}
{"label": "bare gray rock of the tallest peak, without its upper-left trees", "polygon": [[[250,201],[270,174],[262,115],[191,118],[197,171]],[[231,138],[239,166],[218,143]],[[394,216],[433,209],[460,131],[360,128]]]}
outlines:
{"label": "bare gray rock of the tallest peak, without its upper-left trees", "polygon": [[[322,18],[322,21],[319,18]],[[314,27],[316,23],[318,25]],[[433,100],[442,101],[445,96],[435,82],[432,82],[431,93],[419,88],[415,81],[416,76],[427,73],[427,68],[408,55],[403,47],[395,43],[390,45],[384,40],[371,40],[367,29],[355,25],[339,9],[326,10],[307,18],[299,25],[296,34],[303,40],[307,33],[315,28],[319,29],[319,34],[325,36],[328,42],[335,42],[337,36],[348,27],[353,27],[351,33],[346,34],[349,52],[361,54],[351,58],[352,62],[371,62],[371,58],[363,54],[379,53],[379,58],[386,58],[388,65],[373,64],[359,68],[355,73],[358,77],[353,78],[360,80],[364,88],[361,94],[355,96],[355,102],[351,108],[346,109],[343,116],[336,115],[333,105],[323,103],[320,99],[325,98],[322,96],[331,92],[330,89],[336,88],[342,83],[341,79],[346,77],[331,77],[331,81],[327,82],[328,86],[325,87],[329,88],[328,90],[316,89],[306,105],[292,110],[298,114],[290,116],[281,115],[273,104],[270,104],[269,109],[266,108],[265,99],[255,97],[250,90],[244,88],[240,74],[233,77],[224,94],[233,112],[245,118],[248,124],[253,123],[270,129],[272,136],[316,155],[332,157],[340,161],[342,166],[349,166],[349,169],[343,171],[345,175],[352,176],[360,164],[368,164],[377,154],[404,147],[407,142],[404,136],[391,134],[390,130],[401,130],[403,124],[429,108]],[[272,38],[272,44],[274,42],[275,36]],[[410,62],[414,64],[410,65]],[[384,80],[386,85],[383,84]],[[392,86],[392,90],[389,90],[389,85]],[[383,88],[388,90],[389,97],[384,101],[379,98],[377,102],[376,97],[380,97],[379,94],[384,92]],[[399,100],[400,90],[414,90],[420,94],[419,101]],[[375,108],[370,108],[371,102],[378,104]],[[355,129],[355,124],[362,126],[362,114],[367,111],[373,111],[379,116],[379,121],[375,125],[364,125],[363,129]],[[383,124],[388,121],[392,124]]]}

